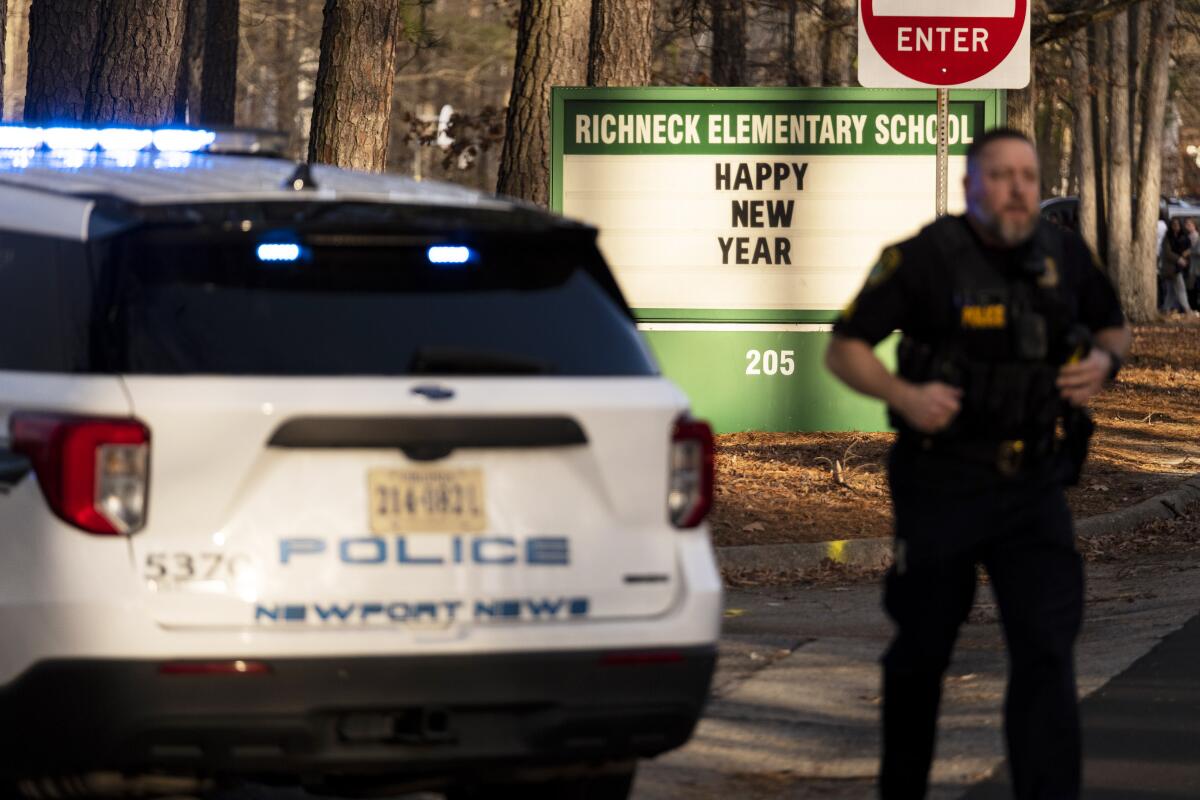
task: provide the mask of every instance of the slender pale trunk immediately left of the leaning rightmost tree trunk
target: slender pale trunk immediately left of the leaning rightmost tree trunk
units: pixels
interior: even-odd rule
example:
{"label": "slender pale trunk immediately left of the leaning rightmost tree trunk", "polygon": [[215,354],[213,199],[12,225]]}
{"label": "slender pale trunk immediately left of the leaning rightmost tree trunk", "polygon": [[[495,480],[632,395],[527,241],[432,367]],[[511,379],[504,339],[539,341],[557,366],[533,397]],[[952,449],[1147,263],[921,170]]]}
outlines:
{"label": "slender pale trunk immediately left of the leaning rightmost tree trunk", "polygon": [[1135,312],[1140,291],[1133,269],[1133,213],[1129,207],[1129,18],[1109,20],[1109,275],[1117,284],[1121,305]]}

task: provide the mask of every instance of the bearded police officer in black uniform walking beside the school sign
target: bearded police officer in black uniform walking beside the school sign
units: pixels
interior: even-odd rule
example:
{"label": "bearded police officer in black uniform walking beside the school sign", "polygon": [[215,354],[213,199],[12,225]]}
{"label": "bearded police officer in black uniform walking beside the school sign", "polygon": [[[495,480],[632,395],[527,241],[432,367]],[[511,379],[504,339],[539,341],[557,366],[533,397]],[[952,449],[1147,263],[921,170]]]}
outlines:
{"label": "bearded police officer in black uniform walking beside the school sign", "polygon": [[[1074,640],[1082,565],[1064,485],[1130,333],[1075,234],[1038,218],[1033,143],[995,130],[967,151],[967,213],[883,251],[834,326],[829,368],[884,401],[899,435],[888,477],[895,561],[884,606],[884,800],[925,794],[942,675],[988,570],[1009,651],[1013,789],[1079,796]],[[902,332],[899,374],[872,348]]]}

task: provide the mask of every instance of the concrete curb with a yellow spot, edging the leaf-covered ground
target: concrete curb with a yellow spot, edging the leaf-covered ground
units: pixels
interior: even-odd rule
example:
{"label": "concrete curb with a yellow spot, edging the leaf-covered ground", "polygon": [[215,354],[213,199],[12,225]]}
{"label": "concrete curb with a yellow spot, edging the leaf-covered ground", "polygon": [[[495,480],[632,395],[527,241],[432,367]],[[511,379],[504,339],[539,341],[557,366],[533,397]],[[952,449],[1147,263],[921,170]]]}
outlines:
{"label": "concrete curb with a yellow spot, edging the leaf-covered ground", "polygon": [[[1196,503],[1200,503],[1200,475],[1128,509],[1076,521],[1075,535],[1081,539],[1103,536],[1152,519],[1181,517]],[[886,569],[892,564],[892,539],[718,547],[716,561],[722,570],[811,570],[826,561],[858,570]]]}

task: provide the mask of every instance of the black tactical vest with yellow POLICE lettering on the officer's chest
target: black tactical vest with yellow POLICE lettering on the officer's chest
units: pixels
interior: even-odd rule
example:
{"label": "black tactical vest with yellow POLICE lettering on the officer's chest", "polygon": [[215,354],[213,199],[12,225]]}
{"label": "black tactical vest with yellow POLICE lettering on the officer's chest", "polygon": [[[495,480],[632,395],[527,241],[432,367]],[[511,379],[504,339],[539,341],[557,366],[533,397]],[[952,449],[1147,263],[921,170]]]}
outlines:
{"label": "black tactical vest with yellow POLICE lettering on the officer's chest", "polygon": [[943,217],[922,233],[952,267],[954,324],[936,341],[905,336],[899,373],[913,383],[938,380],[962,390],[950,426],[928,437],[896,414],[901,437],[925,447],[960,443],[1020,441],[1027,455],[1055,446],[1063,402],[1055,385],[1058,367],[1085,355],[1086,329],[1058,290],[1062,239],[1040,223],[1027,255],[1001,269],[958,217]]}

